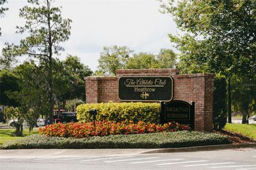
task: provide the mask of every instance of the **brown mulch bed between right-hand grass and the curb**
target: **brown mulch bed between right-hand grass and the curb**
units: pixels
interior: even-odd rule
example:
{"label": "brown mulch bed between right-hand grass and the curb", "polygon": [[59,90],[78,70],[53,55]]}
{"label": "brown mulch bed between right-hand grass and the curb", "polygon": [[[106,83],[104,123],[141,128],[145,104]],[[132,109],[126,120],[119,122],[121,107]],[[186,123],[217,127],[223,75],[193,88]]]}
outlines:
{"label": "brown mulch bed between right-hand grass and the curb", "polygon": [[223,134],[223,135],[227,136],[232,144],[255,143],[256,142],[253,139],[250,139],[246,136],[242,136],[241,134],[237,134],[235,132],[229,132],[229,131],[222,130],[222,131],[216,131],[216,133]]}

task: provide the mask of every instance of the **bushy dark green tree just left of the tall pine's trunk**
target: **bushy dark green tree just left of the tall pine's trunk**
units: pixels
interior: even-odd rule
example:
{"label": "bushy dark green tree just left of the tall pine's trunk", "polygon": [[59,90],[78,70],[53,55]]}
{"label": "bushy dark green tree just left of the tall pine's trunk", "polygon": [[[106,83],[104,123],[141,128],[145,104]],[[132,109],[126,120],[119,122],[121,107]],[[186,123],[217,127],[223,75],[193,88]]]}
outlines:
{"label": "bushy dark green tree just left of the tall pine's trunk", "polygon": [[35,62],[24,62],[15,67],[14,73],[19,78],[19,92],[8,94],[19,103],[19,111],[33,130],[40,114],[49,114],[49,100],[45,83],[44,67],[36,66]]}

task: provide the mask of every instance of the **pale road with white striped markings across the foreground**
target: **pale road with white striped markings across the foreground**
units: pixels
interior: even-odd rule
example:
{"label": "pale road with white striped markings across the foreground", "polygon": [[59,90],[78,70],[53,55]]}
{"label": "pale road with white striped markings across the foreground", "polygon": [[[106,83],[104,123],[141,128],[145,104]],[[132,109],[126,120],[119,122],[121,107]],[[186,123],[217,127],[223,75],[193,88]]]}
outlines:
{"label": "pale road with white striped markings across the foreground", "polygon": [[0,169],[256,169],[256,148],[155,154],[138,154],[136,150],[123,154],[120,150],[108,155],[100,150],[90,154],[77,150],[77,155],[76,150],[70,154],[59,151],[46,155],[38,152],[47,150],[19,150],[17,154],[0,151]]}

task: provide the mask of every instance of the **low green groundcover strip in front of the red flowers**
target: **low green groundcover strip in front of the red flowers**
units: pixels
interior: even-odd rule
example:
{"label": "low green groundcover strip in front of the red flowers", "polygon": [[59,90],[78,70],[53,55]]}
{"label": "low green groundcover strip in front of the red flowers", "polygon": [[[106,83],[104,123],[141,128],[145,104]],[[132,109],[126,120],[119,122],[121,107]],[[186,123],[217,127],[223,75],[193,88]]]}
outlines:
{"label": "low green groundcover strip in front of the red flowers", "polygon": [[230,143],[226,136],[204,132],[161,132],[152,134],[111,135],[92,138],[63,138],[31,135],[0,145],[1,149],[32,148],[179,148]]}

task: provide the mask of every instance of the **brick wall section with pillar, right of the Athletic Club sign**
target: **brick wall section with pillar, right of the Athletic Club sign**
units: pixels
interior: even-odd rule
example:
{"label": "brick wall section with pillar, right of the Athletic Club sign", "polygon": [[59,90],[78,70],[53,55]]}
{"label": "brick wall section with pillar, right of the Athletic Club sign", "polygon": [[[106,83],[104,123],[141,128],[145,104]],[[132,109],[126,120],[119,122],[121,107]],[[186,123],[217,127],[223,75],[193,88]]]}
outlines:
{"label": "brick wall section with pillar, right of the Athletic Club sign", "polygon": [[195,102],[195,130],[212,131],[214,74],[173,76],[174,100]]}

